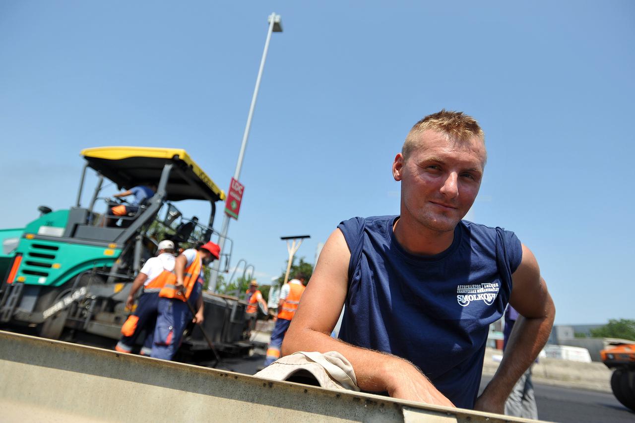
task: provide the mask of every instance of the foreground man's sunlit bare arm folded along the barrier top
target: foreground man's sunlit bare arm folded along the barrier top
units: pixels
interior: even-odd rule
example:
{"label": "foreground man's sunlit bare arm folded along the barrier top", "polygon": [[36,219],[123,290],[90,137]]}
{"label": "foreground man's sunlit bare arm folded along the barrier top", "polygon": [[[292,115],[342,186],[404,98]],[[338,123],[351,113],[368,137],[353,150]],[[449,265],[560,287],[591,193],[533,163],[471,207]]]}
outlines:
{"label": "foreground man's sunlit bare arm folded along the barrier top", "polygon": [[284,337],[283,355],[296,351],[337,351],[351,362],[358,386],[364,391],[387,391],[394,398],[453,406],[409,361],[330,337],[346,298],[350,260],[344,235],[336,229],[320,253],[311,283],[291,320]]}

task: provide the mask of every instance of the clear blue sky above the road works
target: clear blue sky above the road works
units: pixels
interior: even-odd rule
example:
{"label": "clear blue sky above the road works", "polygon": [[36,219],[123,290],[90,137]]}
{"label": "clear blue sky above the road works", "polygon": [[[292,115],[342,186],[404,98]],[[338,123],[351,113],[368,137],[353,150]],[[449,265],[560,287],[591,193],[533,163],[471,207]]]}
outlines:
{"label": "clear blue sky above the road works", "polygon": [[556,323],[635,318],[635,3],[307,3],[2,1],[3,226],[72,205],[86,147],[185,148],[227,190],[276,11],[234,264],[268,283],[280,236],[312,262],[341,220],[398,213],[392,159],[445,107],[486,133],[469,218],[533,250]]}

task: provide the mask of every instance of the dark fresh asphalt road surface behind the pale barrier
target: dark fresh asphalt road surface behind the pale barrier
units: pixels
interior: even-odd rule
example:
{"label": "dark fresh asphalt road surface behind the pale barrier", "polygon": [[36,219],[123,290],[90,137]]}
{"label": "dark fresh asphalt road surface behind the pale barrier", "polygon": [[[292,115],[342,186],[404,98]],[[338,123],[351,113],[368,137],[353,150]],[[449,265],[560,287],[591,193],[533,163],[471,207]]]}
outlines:
{"label": "dark fresh asphalt road surface behind the pale barrier", "polygon": [[[264,356],[227,358],[219,369],[253,375],[262,366]],[[481,389],[490,381],[483,377]],[[635,413],[615,399],[613,394],[587,389],[573,389],[534,384],[538,417],[541,420],[562,423],[634,423]]]}

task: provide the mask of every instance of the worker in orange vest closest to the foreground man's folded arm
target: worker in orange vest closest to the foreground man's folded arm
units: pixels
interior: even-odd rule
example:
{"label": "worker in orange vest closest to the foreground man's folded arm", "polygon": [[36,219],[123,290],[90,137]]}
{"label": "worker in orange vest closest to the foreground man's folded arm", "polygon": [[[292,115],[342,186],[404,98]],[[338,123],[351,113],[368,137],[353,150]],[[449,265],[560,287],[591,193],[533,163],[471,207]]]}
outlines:
{"label": "worker in orange vest closest to the foreground man's folded arm", "polygon": [[300,297],[302,297],[302,293],[304,292],[304,280],[304,274],[298,272],[295,274],[295,277],[284,284],[280,290],[276,326],[274,326],[274,330],[271,332],[271,341],[269,342],[269,348],[267,348],[265,366],[269,366],[280,358],[280,348],[282,347],[284,334],[291,324],[291,319],[293,319],[293,315],[298,309]]}

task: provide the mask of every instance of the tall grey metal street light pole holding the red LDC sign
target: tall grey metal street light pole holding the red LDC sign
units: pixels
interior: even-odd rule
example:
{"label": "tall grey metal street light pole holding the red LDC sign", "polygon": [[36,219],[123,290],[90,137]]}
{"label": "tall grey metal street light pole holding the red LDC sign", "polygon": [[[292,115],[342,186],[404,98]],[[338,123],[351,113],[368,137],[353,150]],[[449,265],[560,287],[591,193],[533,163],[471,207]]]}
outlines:
{"label": "tall grey metal street light pole holding the red LDC sign", "polygon": [[[251,106],[249,108],[249,114],[247,115],[247,124],[244,127],[243,133],[243,144],[241,144],[240,152],[238,154],[238,161],[236,163],[236,171],[234,171],[234,179],[238,180],[240,177],[240,171],[243,167],[243,158],[244,158],[244,150],[247,147],[247,139],[249,138],[249,131],[251,129],[251,117],[253,117],[253,109],[256,107],[256,99],[258,98],[258,89],[260,88],[260,79],[262,79],[262,71],[265,69],[265,60],[267,59],[267,50],[269,50],[269,40],[271,40],[272,32],[282,32],[282,21],[280,15],[276,15],[276,13],[271,13],[267,18],[267,22],[269,22],[269,30],[267,31],[267,41],[265,41],[265,50],[262,52],[262,59],[260,60],[260,69],[258,70],[258,77],[256,78],[256,86],[253,90],[253,97],[251,97]],[[225,238],[227,237],[227,231],[229,230],[229,215],[224,213],[223,225],[220,230],[220,236],[218,238],[218,246],[220,246],[220,251],[222,253],[223,247],[225,245]],[[210,276],[210,284],[209,290],[216,290],[216,282],[218,279],[218,272],[220,271],[220,260],[216,260],[213,266],[213,272],[211,272]]]}

